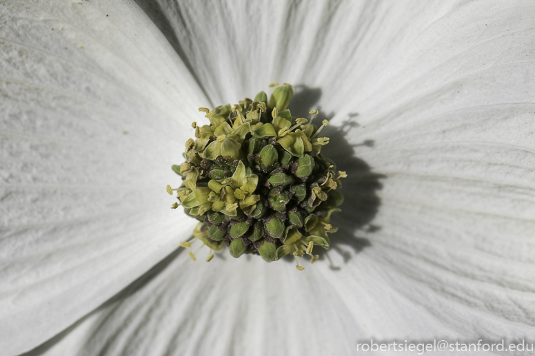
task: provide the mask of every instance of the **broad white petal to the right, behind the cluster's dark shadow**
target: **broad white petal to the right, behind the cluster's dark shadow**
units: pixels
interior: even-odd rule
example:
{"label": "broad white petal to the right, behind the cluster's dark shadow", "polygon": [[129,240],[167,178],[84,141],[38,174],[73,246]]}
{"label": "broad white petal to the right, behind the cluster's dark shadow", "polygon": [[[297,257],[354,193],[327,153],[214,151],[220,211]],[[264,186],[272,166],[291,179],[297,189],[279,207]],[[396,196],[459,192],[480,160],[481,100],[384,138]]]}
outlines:
{"label": "broad white petal to the right, behind the cluster's dark shadow", "polygon": [[356,154],[387,176],[381,229],[360,234],[372,247],[332,274],[375,337],[535,330],[535,8],[522,4],[458,8],[386,61],[370,93],[339,103],[359,112],[350,143],[374,141]]}

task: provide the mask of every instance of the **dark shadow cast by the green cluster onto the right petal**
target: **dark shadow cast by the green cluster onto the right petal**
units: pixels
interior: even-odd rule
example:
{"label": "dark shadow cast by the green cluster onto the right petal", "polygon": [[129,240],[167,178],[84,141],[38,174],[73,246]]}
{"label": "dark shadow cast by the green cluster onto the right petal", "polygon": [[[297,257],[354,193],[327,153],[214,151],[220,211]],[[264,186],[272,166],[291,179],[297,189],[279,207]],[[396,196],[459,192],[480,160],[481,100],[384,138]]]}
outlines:
{"label": "dark shadow cast by the green cluster onto the right petal", "polygon": [[[334,116],[334,112],[321,112],[321,107],[318,107],[317,103],[321,98],[320,88],[309,88],[304,85],[296,85],[294,88],[296,94],[289,107],[292,116],[309,117],[308,112],[317,108],[320,112],[314,118],[316,125]],[[344,196],[344,202],[340,207],[342,211],[332,216],[332,224],[339,227],[339,231],[330,234],[330,251],[340,253],[344,262],[371,246],[370,240],[359,237],[359,231],[373,233],[381,229],[372,224],[372,220],[381,205],[381,200],[376,194],[382,188],[379,180],[386,178],[383,174],[373,172],[364,160],[356,156],[356,150],[359,147],[374,147],[373,140],[365,140],[357,145],[352,145],[347,140],[352,128],[359,126],[355,121],[357,116],[359,116],[357,113],[348,114],[343,125],[339,127],[330,125],[323,129],[325,136],[330,138],[330,143],[323,147],[322,154],[334,160],[337,170],[347,173],[347,178],[342,180],[341,193]],[[345,247],[350,247],[350,249]],[[330,260],[329,253],[323,249],[314,250],[314,253],[318,253],[320,259]],[[293,262],[293,258],[288,258],[288,260]],[[331,269],[340,269],[340,266],[334,266],[331,261],[330,263]]]}

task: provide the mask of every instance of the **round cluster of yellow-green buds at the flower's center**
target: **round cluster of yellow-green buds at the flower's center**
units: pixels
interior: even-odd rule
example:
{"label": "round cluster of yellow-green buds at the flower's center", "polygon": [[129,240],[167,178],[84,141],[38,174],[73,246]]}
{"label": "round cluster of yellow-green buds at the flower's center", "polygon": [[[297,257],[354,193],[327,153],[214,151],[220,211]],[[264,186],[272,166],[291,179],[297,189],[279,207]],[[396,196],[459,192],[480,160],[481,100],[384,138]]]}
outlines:
{"label": "round cluster of yellow-green buds at the flower's center", "polygon": [[172,166],[183,179],[179,188],[167,187],[179,200],[172,208],[183,205],[199,220],[194,238],[181,246],[201,240],[211,250],[207,260],[226,245],[234,258],[252,253],[272,262],[291,253],[314,262],[313,247],[329,249],[327,234],[336,231],[330,217],[340,211],[336,189],[346,175],[321,154],[328,138],[318,134],[329,123],[313,125],[316,111],[310,120],[292,117],[292,86],[270,86],[276,88],[269,100],[260,92],[234,107],[200,108],[210,123],[193,124],[186,162]]}

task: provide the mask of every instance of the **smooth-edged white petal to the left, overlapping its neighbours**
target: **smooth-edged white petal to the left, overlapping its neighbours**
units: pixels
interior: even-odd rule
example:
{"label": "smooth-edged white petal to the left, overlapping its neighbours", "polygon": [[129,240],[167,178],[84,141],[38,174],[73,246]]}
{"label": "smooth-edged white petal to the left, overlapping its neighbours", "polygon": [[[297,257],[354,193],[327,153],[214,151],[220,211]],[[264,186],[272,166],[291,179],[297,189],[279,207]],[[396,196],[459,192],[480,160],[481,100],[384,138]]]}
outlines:
{"label": "smooth-edged white petal to the left, overlapping its neighbours", "polygon": [[170,166],[206,99],[135,4],[4,1],[0,12],[0,349],[11,355],[190,235],[165,185],[180,184]]}

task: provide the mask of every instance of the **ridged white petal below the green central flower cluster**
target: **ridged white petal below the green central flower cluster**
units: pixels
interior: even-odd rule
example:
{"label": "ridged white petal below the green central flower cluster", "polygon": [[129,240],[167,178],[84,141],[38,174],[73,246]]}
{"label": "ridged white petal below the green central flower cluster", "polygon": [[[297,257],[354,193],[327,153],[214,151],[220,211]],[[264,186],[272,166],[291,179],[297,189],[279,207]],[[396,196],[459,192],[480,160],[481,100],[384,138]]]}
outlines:
{"label": "ridged white petal below the green central flower cluster", "polygon": [[364,331],[316,264],[203,252],[164,262],[44,355],[351,355]]}

